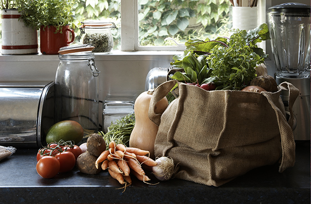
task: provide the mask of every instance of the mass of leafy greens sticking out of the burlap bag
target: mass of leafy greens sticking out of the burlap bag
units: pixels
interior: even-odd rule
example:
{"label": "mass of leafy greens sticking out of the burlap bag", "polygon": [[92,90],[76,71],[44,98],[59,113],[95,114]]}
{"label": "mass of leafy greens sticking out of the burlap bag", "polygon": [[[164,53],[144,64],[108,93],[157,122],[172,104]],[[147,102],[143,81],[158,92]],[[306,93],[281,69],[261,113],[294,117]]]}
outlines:
{"label": "mass of leafy greens sticking out of the burlap bag", "polygon": [[190,39],[183,55],[174,56],[171,65],[183,68],[170,76],[180,82],[214,82],[219,89],[241,90],[256,77],[255,67],[267,57],[257,42],[269,39],[266,24],[249,30],[234,30],[230,36],[215,40]]}

